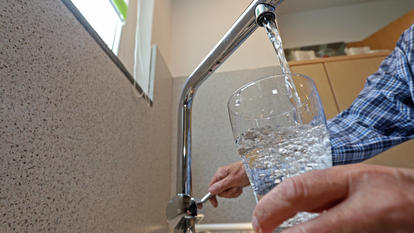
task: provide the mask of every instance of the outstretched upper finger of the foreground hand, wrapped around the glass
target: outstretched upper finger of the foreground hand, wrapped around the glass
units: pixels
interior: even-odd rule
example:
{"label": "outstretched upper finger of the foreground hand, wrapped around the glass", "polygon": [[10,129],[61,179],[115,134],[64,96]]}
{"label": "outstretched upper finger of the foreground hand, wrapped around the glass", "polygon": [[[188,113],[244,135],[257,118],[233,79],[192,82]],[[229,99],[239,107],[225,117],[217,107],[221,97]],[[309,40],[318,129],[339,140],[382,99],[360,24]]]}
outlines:
{"label": "outstretched upper finger of the foreground hand, wrapped around the glass", "polygon": [[[313,171],[285,180],[257,204],[253,226],[262,233],[271,232],[300,211],[323,210],[343,200],[348,180],[343,168]],[[299,231],[300,232],[300,231]]]}

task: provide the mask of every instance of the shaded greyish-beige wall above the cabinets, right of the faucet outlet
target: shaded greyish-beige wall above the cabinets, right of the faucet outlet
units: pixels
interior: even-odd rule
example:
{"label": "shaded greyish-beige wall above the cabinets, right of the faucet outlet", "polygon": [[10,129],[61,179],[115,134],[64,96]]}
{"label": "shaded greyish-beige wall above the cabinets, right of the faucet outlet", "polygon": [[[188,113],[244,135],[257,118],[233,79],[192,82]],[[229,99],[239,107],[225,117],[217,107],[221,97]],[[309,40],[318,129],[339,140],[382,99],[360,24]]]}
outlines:
{"label": "shaded greyish-beige wall above the cabinets, right of the faucet outlet", "polygon": [[287,48],[360,41],[413,8],[412,0],[372,1],[281,15],[279,25]]}

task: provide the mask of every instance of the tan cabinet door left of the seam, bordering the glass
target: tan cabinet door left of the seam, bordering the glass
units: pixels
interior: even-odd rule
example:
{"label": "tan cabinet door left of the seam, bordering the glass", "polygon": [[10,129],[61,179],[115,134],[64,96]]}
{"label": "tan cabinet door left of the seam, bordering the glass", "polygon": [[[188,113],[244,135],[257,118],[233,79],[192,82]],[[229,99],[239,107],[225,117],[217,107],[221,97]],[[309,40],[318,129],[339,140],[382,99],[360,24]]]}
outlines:
{"label": "tan cabinet door left of the seam, bordering the glass", "polygon": [[338,114],[338,107],[322,63],[292,66],[291,70],[293,73],[304,74],[313,79],[316,88],[318,89],[319,96],[321,97],[327,119]]}

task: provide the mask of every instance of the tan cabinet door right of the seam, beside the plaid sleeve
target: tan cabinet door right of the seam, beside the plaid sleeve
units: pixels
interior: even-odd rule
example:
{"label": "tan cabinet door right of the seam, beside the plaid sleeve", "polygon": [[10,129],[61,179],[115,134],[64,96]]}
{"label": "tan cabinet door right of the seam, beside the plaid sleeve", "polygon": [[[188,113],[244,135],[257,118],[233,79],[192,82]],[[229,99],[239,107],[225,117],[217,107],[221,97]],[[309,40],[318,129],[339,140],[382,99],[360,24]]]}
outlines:
{"label": "tan cabinet door right of the seam, beside the plaid sleeve", "polygon": [[372,57],[325,63],[332,90],[342,112],[356,99],[364,87],[365,80],[375,73],[385,57]]}

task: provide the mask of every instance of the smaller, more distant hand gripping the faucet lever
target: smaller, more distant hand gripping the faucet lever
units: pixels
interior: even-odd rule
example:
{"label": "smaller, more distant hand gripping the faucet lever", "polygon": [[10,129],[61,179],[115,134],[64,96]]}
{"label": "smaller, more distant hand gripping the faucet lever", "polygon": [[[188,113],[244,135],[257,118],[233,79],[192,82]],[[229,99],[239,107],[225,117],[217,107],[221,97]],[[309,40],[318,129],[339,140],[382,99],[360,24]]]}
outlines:
{"label": "smaller, more distant hand gripping the faucet lever", "polygon": [[218,206],[216,195],[225,198],[235,198],[243,192],[243,187],[248,186],[249,178],[241,162],[220,167],[208,185],[208,191],[213,195],[210,202],[214,207]]}

